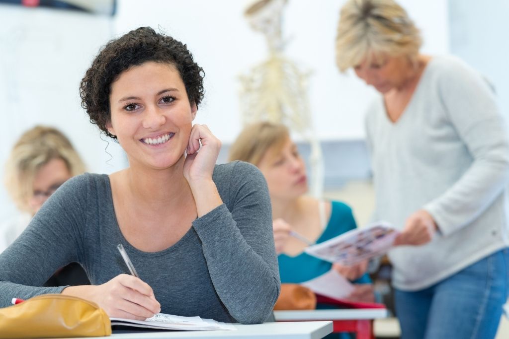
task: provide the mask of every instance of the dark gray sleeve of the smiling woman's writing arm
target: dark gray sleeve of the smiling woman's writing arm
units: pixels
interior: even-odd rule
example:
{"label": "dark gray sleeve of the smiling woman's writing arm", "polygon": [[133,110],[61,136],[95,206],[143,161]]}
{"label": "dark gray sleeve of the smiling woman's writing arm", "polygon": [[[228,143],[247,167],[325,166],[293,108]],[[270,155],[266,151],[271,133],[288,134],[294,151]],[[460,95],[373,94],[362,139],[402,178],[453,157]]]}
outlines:
{"label": "dark gray sleeve of the smiling woman's writing arm", "polygon": [[[0,254],[0,307],[11,299],[60,293],[40,287],[55,272],[80,259],[78,225],[84,222],[84,178],[68,180],[42,206],[24,232]],[[57,250],[58,249],[58,250]]]}

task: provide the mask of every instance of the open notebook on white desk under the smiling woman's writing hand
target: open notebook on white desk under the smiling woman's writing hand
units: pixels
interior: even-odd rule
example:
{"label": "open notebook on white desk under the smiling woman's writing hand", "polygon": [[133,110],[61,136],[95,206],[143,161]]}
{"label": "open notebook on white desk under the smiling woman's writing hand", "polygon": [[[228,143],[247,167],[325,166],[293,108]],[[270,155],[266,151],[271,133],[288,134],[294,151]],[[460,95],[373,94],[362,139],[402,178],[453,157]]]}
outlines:
{"label": "open notebook on white desk under the smiling woman's writing hand", "polygon": [[235,330],[232,324],[221,323],[212,319],[200,317],[182,317],[171,314],[158,313],[146,320],[133,320],[123,318],[110,318],[111,326],[122,325],[142,328],[155,328],[179,331],[210,331]]}

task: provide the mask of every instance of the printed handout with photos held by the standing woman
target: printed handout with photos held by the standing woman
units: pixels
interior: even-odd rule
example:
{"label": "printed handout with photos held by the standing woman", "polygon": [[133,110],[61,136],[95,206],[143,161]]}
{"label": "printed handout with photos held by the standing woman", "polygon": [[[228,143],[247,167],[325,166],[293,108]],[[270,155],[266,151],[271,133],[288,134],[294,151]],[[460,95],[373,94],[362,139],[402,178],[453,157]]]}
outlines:
{"label": "printed handout with photos held by the standing woman", "polygon": [[387,252],[398,234],[389,223],[377,222],[309,246],[305,252],[329,262],[353,265]]}

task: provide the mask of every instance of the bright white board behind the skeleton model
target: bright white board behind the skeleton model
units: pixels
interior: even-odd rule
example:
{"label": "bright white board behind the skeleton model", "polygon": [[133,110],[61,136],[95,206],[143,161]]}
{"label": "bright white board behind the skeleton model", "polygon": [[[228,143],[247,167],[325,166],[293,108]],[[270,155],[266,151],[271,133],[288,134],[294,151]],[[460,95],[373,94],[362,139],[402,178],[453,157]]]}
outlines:
{"label": "bright white board behind the skeleton model", "polygon": [[[117,32],[159,25],[167,34],[188,44],[206,73],[206,99],[197,122],[209,125],[224,142],[232,141],[241,128],[238,75],[247,73],[266,57],[263,36],[253,32],[243,18],[250,1],[152,0],[150,5],[140,6],[136,0],[121,0],[118,7]],[[284,14],[284,35],[293,37],[287,54],[302,70],[313,72],[309,100],[321,139],[362,138],[363,112],[374,95],[352,74],[341,75],[335,67],[335,30],[344,3],[345,0],[290,0]],[[447,3],[404,0],[401,4],[422,29],[423,50],[447,53]]]}

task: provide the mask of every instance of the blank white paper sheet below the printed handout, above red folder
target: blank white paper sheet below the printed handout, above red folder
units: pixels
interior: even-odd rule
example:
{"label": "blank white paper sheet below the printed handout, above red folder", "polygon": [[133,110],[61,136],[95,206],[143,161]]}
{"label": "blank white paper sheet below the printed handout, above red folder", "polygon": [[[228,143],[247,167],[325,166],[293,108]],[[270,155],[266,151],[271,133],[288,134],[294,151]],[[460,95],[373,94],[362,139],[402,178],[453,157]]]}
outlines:
{"label": "blank white paper sheet below the printed handout, above red folder", "polygon": [[352,283],[333,269],[301,285],[315,293],[335,299],[343,299],[349,296],[354,290]]}

